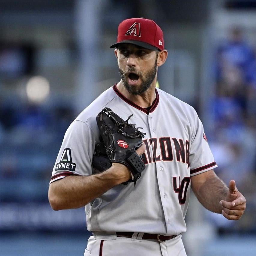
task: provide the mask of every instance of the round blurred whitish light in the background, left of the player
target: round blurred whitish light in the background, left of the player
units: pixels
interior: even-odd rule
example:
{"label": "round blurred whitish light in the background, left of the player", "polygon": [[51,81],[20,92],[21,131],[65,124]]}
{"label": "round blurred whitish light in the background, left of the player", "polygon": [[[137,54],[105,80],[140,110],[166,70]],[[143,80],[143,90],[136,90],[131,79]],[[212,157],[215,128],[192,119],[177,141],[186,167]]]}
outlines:
{"label": "round blurred whitish light in the background, left of the player", "polygon": [[42,103],[50,93],[50,83],[45,77],[31,77],[26,86],[27,96],[30,102]]}

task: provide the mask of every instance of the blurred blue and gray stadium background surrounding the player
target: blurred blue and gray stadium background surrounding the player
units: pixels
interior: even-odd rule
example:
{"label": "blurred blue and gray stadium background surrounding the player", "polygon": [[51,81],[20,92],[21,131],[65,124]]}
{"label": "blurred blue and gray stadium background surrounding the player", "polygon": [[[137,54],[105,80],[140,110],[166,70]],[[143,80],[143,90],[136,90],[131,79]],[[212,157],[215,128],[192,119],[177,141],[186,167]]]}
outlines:
{"label": "blurred blue and gray stadium background surrounding the player", "polygon": [[[84,208],[54,212],[47,190],[69,124],[119,81],[119,22],[156,21],[160,88],[193,105],[217,174],[247,199],[226,221],[191,198],[188,255],[256,255],[256,1],[1,0],[0,255],[83,255]],[[111,214],[111,213],[110,213]]]}

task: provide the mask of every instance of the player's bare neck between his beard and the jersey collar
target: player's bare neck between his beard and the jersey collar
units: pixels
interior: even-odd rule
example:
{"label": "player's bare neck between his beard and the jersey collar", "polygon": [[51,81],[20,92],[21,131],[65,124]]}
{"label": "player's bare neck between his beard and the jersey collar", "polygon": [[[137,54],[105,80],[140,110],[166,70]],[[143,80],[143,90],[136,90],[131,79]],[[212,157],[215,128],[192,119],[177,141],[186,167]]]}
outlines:
{"label": "player's bare neck between his beard and the jersey collar", "polygon": [[152,85],[149,87],[149,89],[146,90],[146,92],[143,92],[140,95],[130,94],[123,86],[122,80],[119,81],[119,83],[117,83],[116,87],[119,90],[119,92],[121,92],[122,95],[125,96],[125,98],[127,98],[128,100],[132,101],[133,103],[137,104],[142,108],[146,108],[150,107],[156,98],[154,85],[155,81],[153,81]]}

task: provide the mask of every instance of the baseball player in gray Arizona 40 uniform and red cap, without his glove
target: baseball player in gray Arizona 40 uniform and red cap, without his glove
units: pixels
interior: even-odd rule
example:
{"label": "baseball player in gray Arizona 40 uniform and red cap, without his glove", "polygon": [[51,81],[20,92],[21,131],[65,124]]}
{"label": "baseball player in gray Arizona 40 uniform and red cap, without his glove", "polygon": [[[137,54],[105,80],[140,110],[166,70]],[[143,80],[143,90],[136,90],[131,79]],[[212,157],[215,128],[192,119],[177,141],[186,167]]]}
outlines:
{"label": "baseball player in gray Arizona 40 uniform and red cap, without his glove", "polygon": [[[53,168],[49,201],[54,210],[85,206],[88,240],[84,255],[186,255],[182,233],[191,189],[200,203],[230,220],[239,219],[245,198],[228,187],[217,167],[194,108],[156,88],[164,64],[163,32],[152,20],[119,24],[115,48],[122,79],[71,123]],[[136,186],[124,164],[98,173],[92,166],[100,134],[97,114],[105,107],[143,127],[137,149],[146,169]]]}

